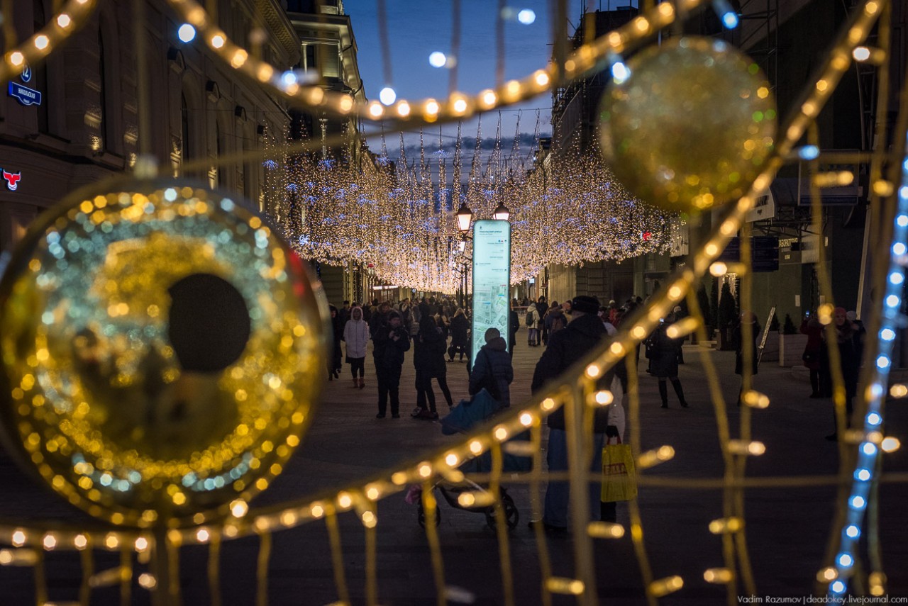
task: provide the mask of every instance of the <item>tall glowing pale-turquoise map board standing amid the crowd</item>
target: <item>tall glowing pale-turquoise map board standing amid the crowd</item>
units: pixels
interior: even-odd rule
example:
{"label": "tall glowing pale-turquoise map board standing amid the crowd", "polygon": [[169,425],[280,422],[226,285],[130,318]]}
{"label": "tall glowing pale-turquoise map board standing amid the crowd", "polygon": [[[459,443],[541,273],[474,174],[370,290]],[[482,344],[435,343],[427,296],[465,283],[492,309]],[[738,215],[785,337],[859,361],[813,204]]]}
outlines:
{"label": "tall glowing pale-turquoise map board standing amid the crowd", "polygon": [[510,305],[510,223],[481,220],[473,224],[473,344],[475,360],[486,344],[486,330],[498,328],[508,340]]}

